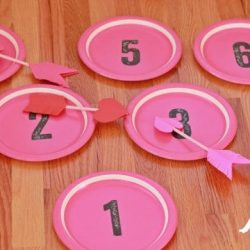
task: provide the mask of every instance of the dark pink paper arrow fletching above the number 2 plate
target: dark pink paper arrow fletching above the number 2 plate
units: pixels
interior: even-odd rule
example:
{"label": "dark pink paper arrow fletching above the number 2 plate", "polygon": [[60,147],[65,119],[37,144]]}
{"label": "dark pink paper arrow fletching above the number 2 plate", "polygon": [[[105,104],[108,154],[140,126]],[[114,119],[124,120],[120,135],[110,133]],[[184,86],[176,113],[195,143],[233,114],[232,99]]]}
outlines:
{"label": "dark pink paper arrow fletching above the number 2 plate", "polygon": [[78,74],[76,69],[49,62],[30,64],[29,66],[36,79],[46,80],[65,88],[69,88],[69,85],[63,77]]}

